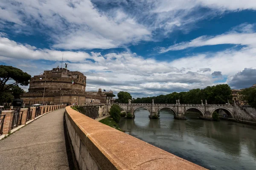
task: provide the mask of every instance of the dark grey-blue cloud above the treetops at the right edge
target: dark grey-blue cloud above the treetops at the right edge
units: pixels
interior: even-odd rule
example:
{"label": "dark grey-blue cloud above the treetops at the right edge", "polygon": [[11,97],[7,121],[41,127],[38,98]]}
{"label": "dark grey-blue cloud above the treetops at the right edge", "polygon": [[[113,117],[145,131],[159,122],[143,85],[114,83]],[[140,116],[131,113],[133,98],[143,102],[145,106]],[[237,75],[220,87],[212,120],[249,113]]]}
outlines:
{"label": "dark grey-blue cloud above the treetops at the right edge", "polygon": [[235,89],[249,88],[256,84],[256,69],[244,68],[228,80],[228,84]]}

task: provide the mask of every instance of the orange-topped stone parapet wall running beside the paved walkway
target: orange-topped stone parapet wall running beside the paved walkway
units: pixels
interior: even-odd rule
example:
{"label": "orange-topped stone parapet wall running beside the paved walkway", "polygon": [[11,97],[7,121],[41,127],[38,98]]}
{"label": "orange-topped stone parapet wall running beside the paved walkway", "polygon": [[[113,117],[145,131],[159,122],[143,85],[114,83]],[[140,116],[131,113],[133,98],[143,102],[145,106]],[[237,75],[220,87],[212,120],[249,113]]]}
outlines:
{"label": "orange-topped stone parapet wall running beside the paved walkway", "polygon": [[[89,107],[89,106],[88,106]],[[67,130],[81,170],[203,170],[158,147],[66,107]]]}

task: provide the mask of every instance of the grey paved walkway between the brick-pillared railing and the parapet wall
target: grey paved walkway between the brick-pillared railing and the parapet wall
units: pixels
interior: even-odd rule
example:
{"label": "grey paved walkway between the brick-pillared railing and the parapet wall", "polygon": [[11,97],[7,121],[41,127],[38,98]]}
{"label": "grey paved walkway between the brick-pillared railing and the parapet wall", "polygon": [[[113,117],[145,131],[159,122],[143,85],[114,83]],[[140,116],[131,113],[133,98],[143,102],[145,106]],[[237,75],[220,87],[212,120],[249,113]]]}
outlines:
{"label": "grey paved walkway between the brick-pillared railing and the parapet wall", "polygon": [[0,169],[73,169],[69,145],[65,140],[64,111],[47,113],[0,141]]}

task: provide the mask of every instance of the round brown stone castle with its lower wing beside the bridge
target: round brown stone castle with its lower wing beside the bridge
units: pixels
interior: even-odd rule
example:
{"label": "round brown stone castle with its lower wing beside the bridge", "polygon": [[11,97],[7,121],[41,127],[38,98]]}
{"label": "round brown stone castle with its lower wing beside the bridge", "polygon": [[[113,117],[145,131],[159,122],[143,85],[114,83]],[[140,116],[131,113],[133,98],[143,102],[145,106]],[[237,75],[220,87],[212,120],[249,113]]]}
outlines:
{"label": "round brown stone castle with its lower wing beside the bridge", "polygon": [[[44,92],[45,88],[45,92]],[[84,104],[113,102],[113,91],[86,92],[86,76],[79,71],[69,71],[67,68],[53,68],[44,71],[30,79],[29,92],[21,99],[25,105],[44,104],[60,105],[67,103]]]}

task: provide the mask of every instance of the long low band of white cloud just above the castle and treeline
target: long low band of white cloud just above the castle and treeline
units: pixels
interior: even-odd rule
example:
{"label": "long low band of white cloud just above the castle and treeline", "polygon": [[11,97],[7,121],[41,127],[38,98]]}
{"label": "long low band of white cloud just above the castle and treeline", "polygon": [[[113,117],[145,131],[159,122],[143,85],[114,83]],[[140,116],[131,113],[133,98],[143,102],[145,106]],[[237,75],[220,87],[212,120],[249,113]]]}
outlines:
{"label": "long low band of white cloud just above the castle and treeline", "polygon": [[[88,54],[82,51],[39,49],[0,37],[0,60],[6,65],[21,68],[32,76],[60,66],[62,53],[69,70],[81,71],[87,76],[88,91],[97,88],[116,92],[129,91],[134,97],[205,88],[217,80],[211,75],[214,71],[221,71],[229,82],[238,71],[256,68],[256,48],[199,54],[168,62],[144,59],[130,52],[102,55],[94,52]],[[39,63],[39,59],[48,61]]]}

